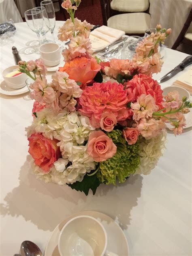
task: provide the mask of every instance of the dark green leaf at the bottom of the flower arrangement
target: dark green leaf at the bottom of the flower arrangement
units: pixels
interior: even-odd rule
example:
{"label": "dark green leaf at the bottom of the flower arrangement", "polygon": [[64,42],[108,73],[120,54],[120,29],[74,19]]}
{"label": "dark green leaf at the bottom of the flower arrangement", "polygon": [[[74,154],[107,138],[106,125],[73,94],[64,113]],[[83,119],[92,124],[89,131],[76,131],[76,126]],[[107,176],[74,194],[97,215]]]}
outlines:
{"label": "dark green leaf at the bottom of the flower arrangement", "polygon": [[81,182],[76,181],[73,184],[67,184],[67,185],[72,189],[84,192],[85,195],[87,196],[90,189],[92,190],[93,194],[95,194],[98,186],[100,185],[100,182],[96,174],[93,176],[88,176],[87,174],[85,174]]}

